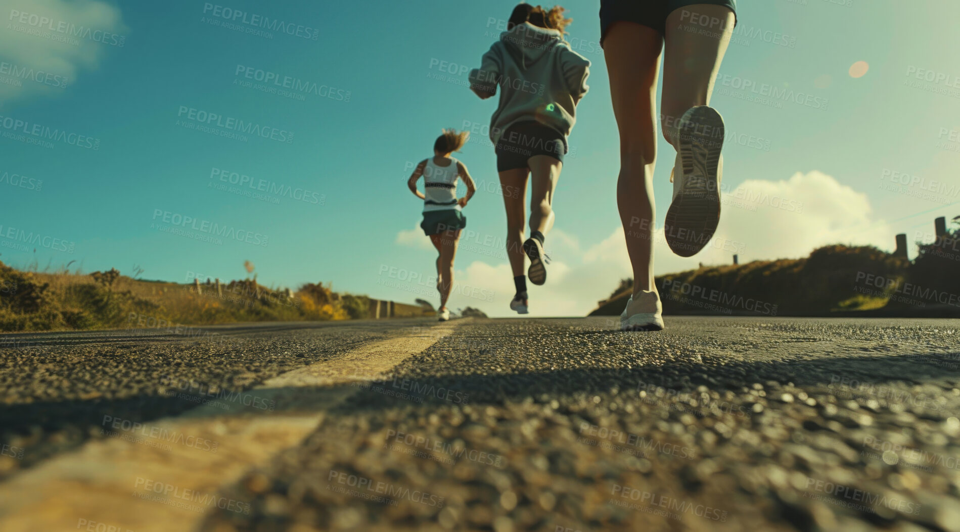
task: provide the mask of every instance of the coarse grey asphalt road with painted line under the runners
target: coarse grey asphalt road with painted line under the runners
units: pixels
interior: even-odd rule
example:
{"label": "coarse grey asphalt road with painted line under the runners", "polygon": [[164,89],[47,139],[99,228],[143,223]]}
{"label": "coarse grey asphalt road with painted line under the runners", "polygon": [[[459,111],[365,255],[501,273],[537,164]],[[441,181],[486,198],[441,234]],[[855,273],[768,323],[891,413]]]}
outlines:
{"label": "coarse grey asphalt road with painted line under the runners", "polygon": [[960,320],[616,325],[3,336],[0,529],[960,531]]}

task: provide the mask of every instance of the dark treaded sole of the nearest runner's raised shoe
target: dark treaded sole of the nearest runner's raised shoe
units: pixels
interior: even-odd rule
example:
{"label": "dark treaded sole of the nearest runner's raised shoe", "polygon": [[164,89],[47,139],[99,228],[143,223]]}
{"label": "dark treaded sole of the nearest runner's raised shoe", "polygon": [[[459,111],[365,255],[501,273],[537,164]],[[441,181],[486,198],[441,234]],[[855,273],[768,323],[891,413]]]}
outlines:
{"label": "dark treaded sole of the nearest runner's raised shoe", "polygon": [[[725,132],[720,113],[707,105],[693,107],[684,119],[680,128],[684,183],[686,175],[697,173],[706,175],[707,187],[700,191],[680,191],[666,213],[663,234],[674,253],[692,257],[707,246],[720,223],[717,168]],[[712,134],[706,134],[704,129]]]}

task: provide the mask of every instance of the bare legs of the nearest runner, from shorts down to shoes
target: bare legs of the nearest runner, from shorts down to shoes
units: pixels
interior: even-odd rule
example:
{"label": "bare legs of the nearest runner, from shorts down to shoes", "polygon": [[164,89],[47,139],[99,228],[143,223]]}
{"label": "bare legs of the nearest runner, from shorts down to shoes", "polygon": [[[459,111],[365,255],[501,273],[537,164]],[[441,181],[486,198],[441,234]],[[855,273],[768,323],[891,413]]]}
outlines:
{"label": "bare legs of the nearest runner, from shorts down to shoes", "polygon": [[[690,12],[725,21],[723,29],[715,29],[712,35],[709,31],[705,32],[707,35],[684,31],[684,24],[693,24]],[[612,24],[604,39],[613,114],[620,132],[617,205],[634,268],[635,295],[641,290],[656,289],[653,173],[657,159],[654,120],[660,50],[665,40],[660,124],[667,142],[676,149],[678,145],[671,130],[676,130],[687,109],[709,103],[713,83],[730,43],[733,21],[733,13],[723,6],[698,4],[670,13],[665,39],[652,28],[624,21]],[[679,162],[679,157],[675,160]]]}

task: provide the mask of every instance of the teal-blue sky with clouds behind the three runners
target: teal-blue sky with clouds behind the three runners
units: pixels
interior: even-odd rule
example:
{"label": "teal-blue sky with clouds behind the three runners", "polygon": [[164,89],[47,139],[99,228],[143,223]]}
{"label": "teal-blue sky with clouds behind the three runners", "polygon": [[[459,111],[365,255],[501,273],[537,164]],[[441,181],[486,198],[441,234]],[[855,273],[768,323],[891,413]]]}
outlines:
{"label": "teal-blue sky with clouds behind the three runners", "polygon": [[[924,240],[934,217],[960,214],[960,5],[738,4],[711,102],[731,135],[724,218],[691,259],[658,244],[658,273],[733,252],[743,262],[826,243],[892,249],[896,233]],[[466,71],[514,2],[365,6],[0,0],[0,261],[139,265],[145,278],[186,282],[243,277],[249,260],[267,285],[433,301],[434,254],[405,181],[442,127],[466,127],[456,156],[481,190],[465,210],[450,304],[506,315],[513,284],[484,134],[495,102],[468,90]],[[586,313],[630,271],[598,3],[564,7],[567,38],[592,67],[547,241],[551,283],[531,292],[539,315]],[[854,78],[857,61],[869,70]],[[660,223],[673,152],[659,149]],[[229,236],[211,235],[214,224]]]}

